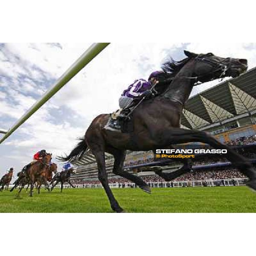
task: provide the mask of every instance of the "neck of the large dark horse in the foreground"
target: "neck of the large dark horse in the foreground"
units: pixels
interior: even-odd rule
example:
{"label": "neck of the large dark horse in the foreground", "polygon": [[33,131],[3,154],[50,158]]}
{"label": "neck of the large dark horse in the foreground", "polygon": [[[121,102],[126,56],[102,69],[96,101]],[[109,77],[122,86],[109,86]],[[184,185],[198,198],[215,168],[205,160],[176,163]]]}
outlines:
{"label": "neck of the large dark horse in the foreground", "polygon": [[177,73],[177,76],[175,76],[175,79],[169,85],[163,96],[184,105],[189,99],[193,88],[193,80],[189,79],[192,75],[193,67],[191,63],[188,63]]}

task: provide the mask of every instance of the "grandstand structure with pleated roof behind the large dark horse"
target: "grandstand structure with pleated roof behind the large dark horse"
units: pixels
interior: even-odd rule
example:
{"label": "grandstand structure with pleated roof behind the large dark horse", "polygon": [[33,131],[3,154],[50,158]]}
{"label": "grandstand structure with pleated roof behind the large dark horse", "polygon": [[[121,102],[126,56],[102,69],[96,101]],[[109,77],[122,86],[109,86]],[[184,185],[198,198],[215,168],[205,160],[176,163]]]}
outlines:
{"label": "grandstand structure with pleated roof behind the large dark horse", "polygon": [[[256,68],[191,97],[183,110],[181,127],[207,131],[221,143],[255,135]],[[112,155],[106,154],[105,157],[109,178],[116,178],[112,173]],[[128,151],[125,169],[137,175],[154,175],[150,170],[138,173],[138,168],[147,166],[147,162],[152,162],[152,158],[152,151]],[[81,160],[75,161],[74,164],[77,166],[77,174],[73,180],[97,180],[96,160],[90,151],[87,151]],[[165,171],[170,172],[177,168],[179,165],[173,163],[166,167]]]}

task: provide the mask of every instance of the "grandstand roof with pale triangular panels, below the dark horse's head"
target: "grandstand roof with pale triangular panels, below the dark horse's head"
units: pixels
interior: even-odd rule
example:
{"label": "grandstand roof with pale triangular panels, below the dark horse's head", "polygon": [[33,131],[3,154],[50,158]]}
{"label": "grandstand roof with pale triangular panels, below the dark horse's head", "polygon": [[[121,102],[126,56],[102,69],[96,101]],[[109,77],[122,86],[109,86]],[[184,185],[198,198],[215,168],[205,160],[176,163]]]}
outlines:
{"label": "grandstand roof with pale triangular panels, below the dark horse's head", "polygon": [[256,68],[191,97],[181,124],[199,129],[256,110]]}

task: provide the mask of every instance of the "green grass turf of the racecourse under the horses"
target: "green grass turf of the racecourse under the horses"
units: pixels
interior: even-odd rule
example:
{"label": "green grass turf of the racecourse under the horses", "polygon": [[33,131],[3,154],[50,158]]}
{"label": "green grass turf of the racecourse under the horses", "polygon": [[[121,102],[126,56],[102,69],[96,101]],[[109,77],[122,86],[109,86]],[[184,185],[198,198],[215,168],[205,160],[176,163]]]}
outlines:
{"label": "green grass turf of the racecourse under the horses", "polygon": [[[247,187],[113,189],[127,212],[256,212],[256,194]],[[30,198],[25,191],[0,192],[0,212],[113,212],[103,189],[59,189]]]}

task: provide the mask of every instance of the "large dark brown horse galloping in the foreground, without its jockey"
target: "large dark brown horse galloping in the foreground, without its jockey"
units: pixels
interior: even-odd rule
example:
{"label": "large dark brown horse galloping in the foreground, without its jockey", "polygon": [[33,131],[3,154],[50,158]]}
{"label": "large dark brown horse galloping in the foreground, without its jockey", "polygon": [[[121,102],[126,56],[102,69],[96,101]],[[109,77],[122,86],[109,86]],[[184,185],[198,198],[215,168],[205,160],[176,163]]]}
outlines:
{"label": "large dark brown horse galloping in the foreground, without its jockey", "polygon": [[[213,136],[204,131],[186,130],[180,128],[180,117],[184,104],[198,83],[212,81],[228,76],[237,77],[247,70],[246,59],[221,58],[208,54],[195,54],[184,51],[187,58],[182,61],[170,59],[162,65],[164,81],[167,87],[158,96],[148,99],[139,105],[133,113],[133,131],[117,133],[105,130],[109,115],[97,116],[84,137],[67,157],[60,157],[63,161],[79,159],[87,148],[96,158],[98,177],[108,195],[111,208],[116,212],[123,212],[108,185],[108,176],[105,168],[105,152],[113,154],[113,173],[125,177],[136,183],[145,192],[150,193],[150,187],[138,176],[123,171],[126,150],[149,151],[156,149],[172,149],[172,144],[201,142],[216,149],[226,149],[227,159],[233,163],[244,175],[250,178],[247,186],[256,189],[256,171],[245,157],[239,155],[226,145],[218,142]],[[161,78],[162,79],[162,78]],[[188,160],[181,160],[182,168],[172,173],[157,172],[165,180],[171,180],[191,170]]]}

